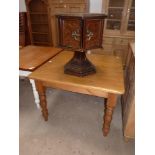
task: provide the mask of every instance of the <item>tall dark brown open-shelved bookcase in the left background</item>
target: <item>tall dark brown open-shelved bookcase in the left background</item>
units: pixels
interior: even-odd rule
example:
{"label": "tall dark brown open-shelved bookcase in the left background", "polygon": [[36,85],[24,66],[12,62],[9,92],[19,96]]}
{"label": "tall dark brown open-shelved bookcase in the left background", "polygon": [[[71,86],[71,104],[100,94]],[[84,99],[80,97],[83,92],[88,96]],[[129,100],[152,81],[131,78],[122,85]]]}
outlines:
{"label": "tall dark brown open-shelved bookcase in the left background", "polygon": [[25,0],[32,45],[52,46],[47,0]]}

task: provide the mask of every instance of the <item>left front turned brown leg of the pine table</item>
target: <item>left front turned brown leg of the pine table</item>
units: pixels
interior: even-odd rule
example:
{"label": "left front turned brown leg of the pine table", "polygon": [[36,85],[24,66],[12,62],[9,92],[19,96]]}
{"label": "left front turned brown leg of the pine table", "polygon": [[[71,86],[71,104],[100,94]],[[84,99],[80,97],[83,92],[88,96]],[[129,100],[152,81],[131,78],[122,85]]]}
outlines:
{"label": "left front turned brown leg of the pine table", "polygon": [[48,120],[48,110],[47,110],[45,87],[42,85],[41,81],[35,81],[35,84],[36,84],[36,88],[37,88],[37,91],[39,94],[42,115],[44,117],[44,120],[47,121]]}

